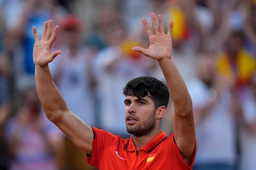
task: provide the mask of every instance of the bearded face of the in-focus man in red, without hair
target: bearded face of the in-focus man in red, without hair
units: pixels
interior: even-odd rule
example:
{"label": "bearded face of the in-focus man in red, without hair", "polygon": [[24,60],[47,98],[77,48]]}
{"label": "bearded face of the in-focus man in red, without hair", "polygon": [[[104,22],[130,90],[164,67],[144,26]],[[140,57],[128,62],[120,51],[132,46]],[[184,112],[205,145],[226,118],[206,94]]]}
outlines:
{"label": "bearded face of the in-focus man in red, without hair", "polygon": [[152,98],[128,95],[124,104],[127,132],[136,136],[151,134],[156,128],[156,109]]}

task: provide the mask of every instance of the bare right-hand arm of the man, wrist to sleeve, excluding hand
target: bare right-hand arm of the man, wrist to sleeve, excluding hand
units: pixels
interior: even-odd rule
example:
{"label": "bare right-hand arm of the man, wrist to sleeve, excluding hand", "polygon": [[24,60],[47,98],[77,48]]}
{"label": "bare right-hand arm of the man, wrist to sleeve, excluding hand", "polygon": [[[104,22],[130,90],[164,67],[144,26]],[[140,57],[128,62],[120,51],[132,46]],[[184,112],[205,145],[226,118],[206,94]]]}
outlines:
{"label": "bare right-hand arm of the man, wrist to sleeve, excluding hand", "polygon": [[173,135],[185,163],[190,165],[195,147],[192,100],[173,59],[159,61],[159,65],[164,73],[173,100]]}

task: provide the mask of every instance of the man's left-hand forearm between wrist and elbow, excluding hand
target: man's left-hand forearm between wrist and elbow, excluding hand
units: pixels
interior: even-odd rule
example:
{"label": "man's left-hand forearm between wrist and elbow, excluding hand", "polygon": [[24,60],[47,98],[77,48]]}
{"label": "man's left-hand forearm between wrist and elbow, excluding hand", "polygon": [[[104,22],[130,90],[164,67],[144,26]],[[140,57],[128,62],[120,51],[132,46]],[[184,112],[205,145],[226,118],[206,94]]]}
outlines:
{"label": "man's left-hand forearm between wrist and elbow, excluding hand", "polygon": [[44,67],[36,65],[36,90],[48,119],[52,120],[68,110],[66,102],[52,80],[48,65]]}

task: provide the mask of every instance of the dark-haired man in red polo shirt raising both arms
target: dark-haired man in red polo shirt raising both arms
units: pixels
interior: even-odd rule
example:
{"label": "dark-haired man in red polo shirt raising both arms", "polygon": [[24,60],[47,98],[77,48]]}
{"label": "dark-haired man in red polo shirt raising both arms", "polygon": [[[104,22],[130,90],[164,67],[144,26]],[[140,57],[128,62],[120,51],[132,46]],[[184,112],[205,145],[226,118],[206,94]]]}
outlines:
{"label": "dark-haired man in red polo shirt raising both arms", "polygon": [[[154,78],[137,78],[128,82],[124,88],[123,92],[126,95],[124,112],[127,130],[132,133],[130,139],[123,140],[107,131],[91,128],[81,121],[67,107],[52,81],[48,67],[48,63],[62,53],[59,50],[51,53],[51,46],[56,39],[59,26],[56,26],[52,33],[52,20],[45,22],[41,40],[36,27],[33,28],[36,87],[45,114],[88,154],[88,163],[96,168],[192,169],[196,155],[192,100],[171,56],[173,23],[169,23],[168,33],[165,34],[162,15],[158,15],[159,27],[154,13],[151,14],[151,18],[155,35],[150,30],[146,19],[142,19],[149,37],[149,48],[133,47],[132,50],[157,60],[164,73],[168,91],[174,103],[173,134],[169,137],[166,137],[163,131],[159,133],[160,120],[165,114],[167,104],[157,102],[154,98],[156,94],[151,94],[149,90],[145,92],[144,89],[144,86],[160,88],[159,91],[166,91],[164,96],[160,95],[160,99],[169,98],[166,87]],[[139,85],[134,88],[133,84],[137,81]],[[144,85],[140,87],[140,84]],[[140,89],[144,90],[143,93],[140,93]]]}

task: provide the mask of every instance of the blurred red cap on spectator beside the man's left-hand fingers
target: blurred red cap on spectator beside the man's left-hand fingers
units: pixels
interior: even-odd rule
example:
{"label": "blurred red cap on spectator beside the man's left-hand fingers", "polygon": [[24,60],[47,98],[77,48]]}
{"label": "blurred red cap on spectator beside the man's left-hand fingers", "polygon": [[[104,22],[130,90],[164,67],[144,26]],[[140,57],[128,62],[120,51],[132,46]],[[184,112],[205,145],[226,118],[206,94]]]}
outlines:
{"label": "blurred red cap on spectator beside the man's left-hand fingers", "polygon": [[81,30],[83,21],[76,15],[66,15],[59,21],[61,29]]}

